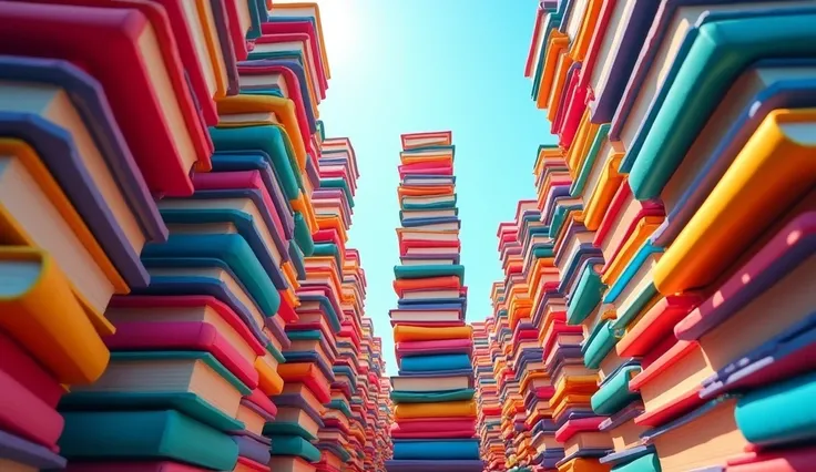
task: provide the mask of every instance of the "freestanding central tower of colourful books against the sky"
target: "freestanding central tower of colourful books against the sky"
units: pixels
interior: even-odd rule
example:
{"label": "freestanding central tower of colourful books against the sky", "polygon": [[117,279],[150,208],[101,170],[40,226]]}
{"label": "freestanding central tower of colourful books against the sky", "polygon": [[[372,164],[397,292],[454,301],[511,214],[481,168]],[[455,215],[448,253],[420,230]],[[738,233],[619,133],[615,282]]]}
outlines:
{"label": "freestanding central tower of colourful books against the sky", "polygon": [[401,136],[390,472],[481,471],[450,132]]}

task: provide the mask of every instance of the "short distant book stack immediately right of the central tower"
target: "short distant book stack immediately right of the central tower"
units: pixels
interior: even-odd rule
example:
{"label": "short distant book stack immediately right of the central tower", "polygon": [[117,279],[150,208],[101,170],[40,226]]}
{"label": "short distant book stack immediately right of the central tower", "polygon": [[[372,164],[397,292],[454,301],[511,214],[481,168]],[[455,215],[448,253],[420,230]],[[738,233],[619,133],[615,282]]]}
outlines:
{"label": "short distant book stack immediately right of the central tower", "polygon": [[492,318],[473,322],[473,369],[478,406],[477,433],[481,441],[481,455],[488,470],[496,470],[504,462],[501,443],[501,406],[493,376],[490,351]]}

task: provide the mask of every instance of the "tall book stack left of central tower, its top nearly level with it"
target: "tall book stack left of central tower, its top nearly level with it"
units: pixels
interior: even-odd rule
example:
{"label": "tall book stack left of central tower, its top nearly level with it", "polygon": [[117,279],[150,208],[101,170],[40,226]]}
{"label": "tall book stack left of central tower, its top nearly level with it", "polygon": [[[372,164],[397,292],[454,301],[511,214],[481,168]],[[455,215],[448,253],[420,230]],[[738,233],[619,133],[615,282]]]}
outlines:
{"label": "tall book stack left of central tower, its top nearly level with it", "polygon": [[[348,417],[341,399],[334,398],[332,386],[337,381],[334,366],[340,357],[338,336],[346,320],[343,305],[346,232],[357,175],[348,140],[325,138],[323,126],[318,135],[318,145],[327,150],[327,155],[318,160],[319,186],[312,196],[310,219],[316,230],[310,232],[304,225],[299,235],[297,230],[295,235],[302,237],[305,278],[297,290],[296,321],[286,326],[292,346],[284,350],[286,363],[280,367],[285,387],[276,398],[279,419],[267,425],[273,444],[282,445],[273,445],[273,469],[307,469],[310,463],[315,470],[319,462],[322,469],[333,470],[350,460],[348,429],[344,422]],[[338,142],[343,144],[338,146]],[[338,148],[346,153],[338,153]],[[305,215],[303,219],[307,218]],[[339,370],[338,389],[347,379],[345,369]]]}

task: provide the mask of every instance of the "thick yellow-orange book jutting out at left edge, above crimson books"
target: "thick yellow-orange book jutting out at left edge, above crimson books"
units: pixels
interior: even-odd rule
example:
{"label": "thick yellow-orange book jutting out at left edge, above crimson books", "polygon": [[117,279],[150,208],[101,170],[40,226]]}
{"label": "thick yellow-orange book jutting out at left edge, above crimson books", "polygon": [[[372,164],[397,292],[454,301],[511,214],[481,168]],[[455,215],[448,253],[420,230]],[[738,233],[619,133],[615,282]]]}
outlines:
{"label": "thick yellow-orange book jutting out at left edge, above crimson books", "polygon": [[0,328],[62,383],[96,380],[110,352],[48,253],[0,246]]}

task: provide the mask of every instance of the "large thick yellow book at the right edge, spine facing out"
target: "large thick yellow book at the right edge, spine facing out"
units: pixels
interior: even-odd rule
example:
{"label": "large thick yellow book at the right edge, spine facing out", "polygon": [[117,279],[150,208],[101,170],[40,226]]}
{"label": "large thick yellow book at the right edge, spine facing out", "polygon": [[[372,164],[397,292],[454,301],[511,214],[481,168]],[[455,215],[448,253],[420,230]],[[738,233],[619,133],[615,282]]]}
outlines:
{"label": "large thick yellow book at the right edge, spine facing out", "polygon": [[[715,281],[816,184],[816,109],[768,114],[654,270],[664,295]],[[784,158],[783,158],[784,157]]]}

